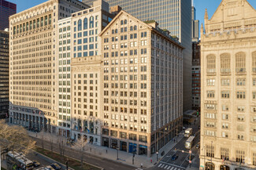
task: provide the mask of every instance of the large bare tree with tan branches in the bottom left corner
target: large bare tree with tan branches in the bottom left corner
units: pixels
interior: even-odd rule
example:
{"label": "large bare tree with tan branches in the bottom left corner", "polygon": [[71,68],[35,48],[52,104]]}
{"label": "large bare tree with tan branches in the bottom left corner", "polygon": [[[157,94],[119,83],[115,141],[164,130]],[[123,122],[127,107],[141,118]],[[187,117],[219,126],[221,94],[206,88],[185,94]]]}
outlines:
{"label": "large bare tree with tan branches in the bottom left corner", "polygon": [[0,121],[0,146],[10,151],[21,151],[28,154],[35,146],[25,128],[18,125],[7,125],[5,121]]}

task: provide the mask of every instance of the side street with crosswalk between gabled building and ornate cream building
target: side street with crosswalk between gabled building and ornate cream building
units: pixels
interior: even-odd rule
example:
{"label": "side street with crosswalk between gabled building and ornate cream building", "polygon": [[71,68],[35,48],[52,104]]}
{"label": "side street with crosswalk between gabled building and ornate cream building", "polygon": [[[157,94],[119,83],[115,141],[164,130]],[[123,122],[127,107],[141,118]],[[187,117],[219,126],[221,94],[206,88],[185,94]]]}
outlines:
{"label": "side street with crosswalk between gabled building and ornate cream building", "polygon": [[[198,118],[199,119],[199,118]],[[195,145],[200,141],[200,131],[198,129],[199,121],[195,125],[191,125],[190,127],[193,128],[193,135],[195,135],[195,142],[193,144],[193,147],[191,149],[192,154],[195,155],[195,157],[192,160],[192,167],[199,167],[199,159],[198,159],[198,149],[195,148]],[[186,153],[189,152],[185,148],[185,142],[187,141],[187,138],[183,138],[180,140],[179,143],[176,144],[176,146],[172,149],[169,150],[167,154],[165,154],[165,157],[161,159],[161,161],[158,162],[158,165],[154,166],[153,168],[149,168],[150,170],[184,170],[189,166],[189,159],[190,154]],[[176,150],[175,150],[176,148]],[[184,150],[182,152],[181,150]],[[172,156],[173,154],[178,154],[179,157],[173,161]]]}

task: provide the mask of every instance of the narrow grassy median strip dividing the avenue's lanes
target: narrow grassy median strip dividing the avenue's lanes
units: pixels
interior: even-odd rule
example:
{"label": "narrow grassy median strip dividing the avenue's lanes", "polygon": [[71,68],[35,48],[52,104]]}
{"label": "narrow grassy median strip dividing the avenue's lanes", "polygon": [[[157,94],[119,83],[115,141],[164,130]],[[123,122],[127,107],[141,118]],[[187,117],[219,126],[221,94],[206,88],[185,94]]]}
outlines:
{"label": "narrow grassy median strip dividing the avenue's lanes", "polygon": [[46,155],[47,157],[50,157],[54,159],[55,161],[61,162],[61,164],[65,165],[65,161],[69,159],[69,167],[76,169],[76,170],[101,170],[100,168],[97,168],[92,165],[87,165],[83,163],[83,167],[81,166],[80,161],[76,161],[74,159],[68,158],[68,157],[62,157],[61,161],[61,156],[60,154],[57,153],[52,153],[50,150],[43,150],[42,148],[36,146],[35,151],[39,152],[40,154]]}

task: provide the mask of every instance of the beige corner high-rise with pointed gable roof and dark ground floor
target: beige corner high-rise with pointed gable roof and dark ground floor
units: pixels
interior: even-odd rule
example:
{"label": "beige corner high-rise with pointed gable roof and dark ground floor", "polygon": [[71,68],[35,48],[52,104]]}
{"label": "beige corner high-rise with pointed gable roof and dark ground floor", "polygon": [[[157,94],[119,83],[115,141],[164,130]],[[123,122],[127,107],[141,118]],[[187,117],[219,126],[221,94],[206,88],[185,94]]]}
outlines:
{"label": "beige corner high-rise with pointed gable roof and dark ground floor", "polygon": [[123,10],[102,37],[102,145],[158,152],[182,125],[183,47]]}

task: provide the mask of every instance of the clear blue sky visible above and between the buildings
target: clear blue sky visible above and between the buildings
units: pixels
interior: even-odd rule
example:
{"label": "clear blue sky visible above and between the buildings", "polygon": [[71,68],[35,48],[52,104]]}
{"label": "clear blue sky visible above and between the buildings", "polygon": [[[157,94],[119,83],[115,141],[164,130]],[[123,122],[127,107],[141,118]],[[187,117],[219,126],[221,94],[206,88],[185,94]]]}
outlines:
{"label": "clear blue sky visible above and between the buildings", "polygon": [[[17,4],[17,13],[25,9],[29,9],[32,6],[39,5],[40,3],[46,2],[47,0],[7,0]],[[256,0],[247,0],[250,5],[256,9]],[[194,0],[194,5],[196,9],[196,18],[200,20],[200,25],[203,23],[203,17],[205,9],[208,10],[209,18],[213,16],[213,13],[220,5],[221,0]]]}

